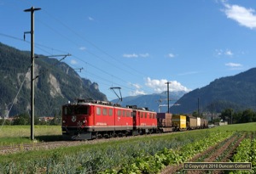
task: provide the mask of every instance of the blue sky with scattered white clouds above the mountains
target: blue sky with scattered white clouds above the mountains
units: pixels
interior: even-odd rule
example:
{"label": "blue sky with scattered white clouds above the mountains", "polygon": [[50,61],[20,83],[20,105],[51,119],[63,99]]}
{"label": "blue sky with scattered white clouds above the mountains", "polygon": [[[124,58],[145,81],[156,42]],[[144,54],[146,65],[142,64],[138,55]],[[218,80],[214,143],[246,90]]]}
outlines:
{"label": "blue sky with scattered white clouds above the mountains", "polygon": [[0,42],[31,50],[32,7],[35,53],[70,53],[62,61],[108,100],[110,87],[189,92],[256,65],[253,0],[0,0]]}

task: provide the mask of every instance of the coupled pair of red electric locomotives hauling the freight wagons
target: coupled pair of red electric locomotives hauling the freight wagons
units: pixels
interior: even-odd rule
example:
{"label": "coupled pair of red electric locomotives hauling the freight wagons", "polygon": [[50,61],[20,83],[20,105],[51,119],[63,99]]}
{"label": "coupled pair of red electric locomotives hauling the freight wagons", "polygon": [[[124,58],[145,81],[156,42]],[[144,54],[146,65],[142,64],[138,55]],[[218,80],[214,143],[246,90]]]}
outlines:
{"label": "coupled pair of red electric locomotives hauling the freight wagons", "polygon": [[145,108],[124,108],[110,102],[84,99],[62,106],[62,135],[65,139],[121,137],[156,130],[156,113]]}

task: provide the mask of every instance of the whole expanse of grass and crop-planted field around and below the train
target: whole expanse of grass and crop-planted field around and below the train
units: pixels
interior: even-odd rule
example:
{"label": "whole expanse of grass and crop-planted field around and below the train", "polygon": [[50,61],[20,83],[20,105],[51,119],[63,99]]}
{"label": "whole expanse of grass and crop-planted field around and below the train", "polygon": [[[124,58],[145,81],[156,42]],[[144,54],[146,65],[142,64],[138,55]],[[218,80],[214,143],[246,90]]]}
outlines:
{"label": "whole expanse of grass and crop-planted field around and below the train", "polygon": [[[3,126],[0,173],[256,173],[256,123],[92,141],[61,126]],[[187,162],[249,162],[252,170],[184,170]]]}

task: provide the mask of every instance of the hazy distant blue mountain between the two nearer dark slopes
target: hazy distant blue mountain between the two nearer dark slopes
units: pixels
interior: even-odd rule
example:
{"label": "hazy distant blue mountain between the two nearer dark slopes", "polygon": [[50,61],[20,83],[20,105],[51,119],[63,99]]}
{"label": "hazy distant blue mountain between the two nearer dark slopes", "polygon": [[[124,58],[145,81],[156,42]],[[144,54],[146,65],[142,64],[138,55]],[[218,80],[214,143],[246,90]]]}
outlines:
{"label": "hazy distant blue mountain between the two nearer dark slopes", "polygon": [[[178,98],[181,98],[183,94],[186,93],[184,91],[179,92],[170,92],[169,102],[170,105],[174,104]],[[167,93],[154,93],[148,95],[137,95],[123,98],[122,102],[119,102],[119,99],[114,99],[111,102],[116,104],[121,104],[122,106],[126,105],[137,105],[140,108],[148,108],[149,110],[166,112],[167,110]],[[164,105],[164,106],[159,106]]]}

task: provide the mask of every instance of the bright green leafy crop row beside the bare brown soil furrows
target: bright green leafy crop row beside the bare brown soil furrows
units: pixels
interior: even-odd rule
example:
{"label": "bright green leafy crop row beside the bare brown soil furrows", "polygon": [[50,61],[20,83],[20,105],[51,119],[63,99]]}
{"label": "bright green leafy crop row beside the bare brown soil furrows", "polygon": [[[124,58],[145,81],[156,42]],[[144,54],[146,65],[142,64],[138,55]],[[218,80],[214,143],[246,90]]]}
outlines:
{"label": "bright green leafy crop row beside the bare brown soil furrows", "polygon": [[135,161],[126,164],[120,169],[108,169],[100,173],[157,173],[165,166],[180,164],[190,160],[195,154],[199,154],[210,146],[230,138],[231,135],[231,132],[212,133],[208,138],[185,144],[180,149],[165,148],[154,155],[137,156]]}

